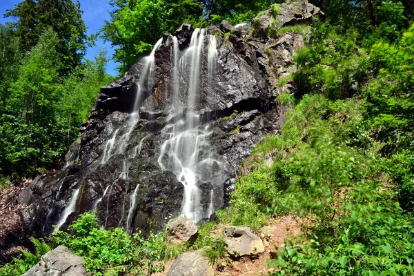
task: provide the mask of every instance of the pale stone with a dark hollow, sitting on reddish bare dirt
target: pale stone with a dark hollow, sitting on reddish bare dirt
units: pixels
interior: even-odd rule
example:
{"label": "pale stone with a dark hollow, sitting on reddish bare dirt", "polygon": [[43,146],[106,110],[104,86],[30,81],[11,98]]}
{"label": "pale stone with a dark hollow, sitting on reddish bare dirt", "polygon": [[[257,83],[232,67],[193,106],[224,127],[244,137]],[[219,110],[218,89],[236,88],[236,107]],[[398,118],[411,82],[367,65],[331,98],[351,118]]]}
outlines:
{"label": "pale stone with a dark hollow, sitting on reddish bare dirt", "polygon": [[230,226],[224,229],[227,252],[232,257],[252,256],[264,252],[262,239],[248,227]]}

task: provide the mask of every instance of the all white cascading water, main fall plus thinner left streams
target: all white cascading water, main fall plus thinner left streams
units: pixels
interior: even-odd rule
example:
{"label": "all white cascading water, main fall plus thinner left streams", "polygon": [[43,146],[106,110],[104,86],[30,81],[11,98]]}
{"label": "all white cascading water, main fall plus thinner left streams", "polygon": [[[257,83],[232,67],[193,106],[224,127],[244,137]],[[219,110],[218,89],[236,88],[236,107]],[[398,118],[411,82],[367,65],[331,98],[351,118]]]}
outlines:
{"label": "all white cascading water, main fall plus thinner left streams", "polygon": [[[217,63],[217,41],[215,36],[207,34],[205,29],[195,29],[190,39],[188,49],[179,50],[177,37],[170,37],[170,93],[168,104],[171,111],[169,118],[177,118],[166,124],[159,132],[159,137],[164,142],[159,146],[157,163],[161,170],[167,170],[175,174],[184,186],[184,198],[181,204],[181,216],[200,221],[208,219],[215,209],[222,204],[223,199],[219,185],[224,179],[221,177],[221,161],[215,150],[212,150],[213,126],[201,120],[204,116],[203,95],[208,93],[213,86]],[[123,183],[124,204],[129,199],[129,206],[122,206],[122,217],[119,224],[123,224],[128,233],[132,233],[137,200],[139,198],[140,184],[134,183],[134,179],[128,178],[128,170],[135,159],[141,154],[144,141],[150,135],[143,135],[137,141],[137,123],[140,121],[139,111],[145,97],[151,95],[157,83],[155,72],[157,64],[156,51],[163,44],[159,39],[148,57],[141,59],[140,74],[135,79],[137,95],[133,112],[125,123],[117,127],[110,139],[106,141],[99,166],[105,167],[112,164],[112,157],[121,155],[123,166],[117,170],[117,176],[107,183],[99,198],[93,201],[92,211],[99,212],[106,226],[110,213],[110,197],[112,190]],[[206,75],[206,76],[204,76]],[[205,99],[205,98],[204,98]],[[204,118],[205,119],[205,118]],[[135,140],[132,140],[134,137]],[[134,141],[136,146],[130,146]],[[152,141],[152,139],[151,139]],[[117,165],[119,166],[119,165]],[[135,186],[133,186],[135,184]],[[128,187],[135,187],[130,190]],[[103,187],[102,187],[103,188]],[[218,195],[216,195],[216,192]],[[75,190],[72,199],[65,208],[57,229],[62,226],[67,217],[75,210],[75,204],[79,195],[79,189]],[[102,217],[103,216],[103,217]],[[126,219],[124,219],[124,216]]]}

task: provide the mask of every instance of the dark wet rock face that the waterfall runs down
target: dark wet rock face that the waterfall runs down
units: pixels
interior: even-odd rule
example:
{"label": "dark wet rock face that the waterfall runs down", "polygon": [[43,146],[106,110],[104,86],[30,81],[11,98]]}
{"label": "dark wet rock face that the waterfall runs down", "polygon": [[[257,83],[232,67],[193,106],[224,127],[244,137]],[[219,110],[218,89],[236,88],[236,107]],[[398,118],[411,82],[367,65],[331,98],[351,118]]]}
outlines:
{"label": "dark wet rock face that the waterfall runs down", "polygon": [[[319,14],[300,1],[281,8],[297,19]],[[3,246],[64,229],[88,210],[101,226],[145,234],[170,217],[201,221],[226,206],[242,159],[283,124],[277,82],[304,44],[297,33],[257,37],[251,28],[224,22],[224,35],[183,25],[101,88],[66,166],[13,199],[10,233],[0,229],[0,242],[12,242]]]}

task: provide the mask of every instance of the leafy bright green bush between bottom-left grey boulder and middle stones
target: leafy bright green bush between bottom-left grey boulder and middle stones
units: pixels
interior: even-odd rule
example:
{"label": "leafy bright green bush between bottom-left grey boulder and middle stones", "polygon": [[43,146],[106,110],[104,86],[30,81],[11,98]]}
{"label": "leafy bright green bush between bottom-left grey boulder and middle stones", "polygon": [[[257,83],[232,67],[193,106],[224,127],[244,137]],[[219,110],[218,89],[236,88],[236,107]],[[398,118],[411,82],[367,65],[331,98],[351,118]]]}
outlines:
{"label": "leafy bright green bush between bottom-left grey boulder and middle stones", "polygon": [[121,228],[104,230],[92,213],[80,215],[68,230],[73,234],[53,233],[53,243],[68,246],[83,257],[86,270],[95,275],[152,275],[164,270],[159,262],[164,242],[161,235],[150,234],[144,239],[140,233],[131,237]]}

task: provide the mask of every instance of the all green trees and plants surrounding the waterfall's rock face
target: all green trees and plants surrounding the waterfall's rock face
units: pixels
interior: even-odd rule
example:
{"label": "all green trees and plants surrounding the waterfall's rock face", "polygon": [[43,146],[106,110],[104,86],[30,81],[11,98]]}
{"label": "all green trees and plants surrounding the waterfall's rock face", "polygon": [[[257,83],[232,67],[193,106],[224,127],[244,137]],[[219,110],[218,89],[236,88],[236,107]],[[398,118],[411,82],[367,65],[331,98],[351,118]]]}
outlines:
{"label": "all green trees and plants surrounding the waterfall's rock face", "polygon": [[[108,59],[122,76],[182,23],[235,25],[284,2],[111,0],[110,21],[92,37],[79,2],[25,0],[8,10],[18,20],[0,25],[0,188],[62,165],[99,88],[115,80]],[[302,219],[304,236],[270,259],[272,275],[413,275],[414,3],[309,2],[325,17],[266,33],[305,37],[295,70],[278,83],[297,87],[275,99],[290,110],[284,126],[242,162],[230,206],[199,226],[193,244],[170,244],[165,232],[104,230],[86,213],[52,242],[32,239],[37,252],[24,251],[0,275],[21,275],[62,244],[92,275],[152,275],[160,262],[204,246],[219,266],[225,245],[209,234],[218,224],[259,230],[286,215]],[[83,59],[98,36],[117,46],[115,55]]]}

